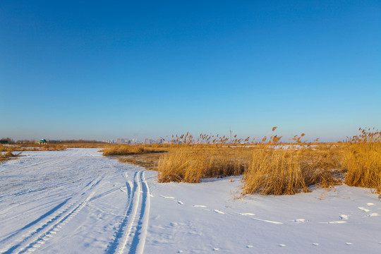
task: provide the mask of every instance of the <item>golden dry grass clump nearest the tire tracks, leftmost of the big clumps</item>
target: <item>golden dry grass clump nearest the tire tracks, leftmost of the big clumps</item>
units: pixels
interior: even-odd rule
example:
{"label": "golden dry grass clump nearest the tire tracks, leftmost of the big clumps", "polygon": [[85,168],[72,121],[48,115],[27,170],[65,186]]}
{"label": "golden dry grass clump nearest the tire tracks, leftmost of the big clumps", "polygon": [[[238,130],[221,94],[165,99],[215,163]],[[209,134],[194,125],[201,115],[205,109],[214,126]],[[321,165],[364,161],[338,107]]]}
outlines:
{"label": "golden dry grass clump nearest the tire tracks, leftmost of the big clumps", "polygon": [[231,148],[227,138],[200,135],[197,144],[193,136],[176,136],[176,149],[159,159],[159,182],[200,183],[202,178],[237,176],[243,174],[247,164],[248,149]]}

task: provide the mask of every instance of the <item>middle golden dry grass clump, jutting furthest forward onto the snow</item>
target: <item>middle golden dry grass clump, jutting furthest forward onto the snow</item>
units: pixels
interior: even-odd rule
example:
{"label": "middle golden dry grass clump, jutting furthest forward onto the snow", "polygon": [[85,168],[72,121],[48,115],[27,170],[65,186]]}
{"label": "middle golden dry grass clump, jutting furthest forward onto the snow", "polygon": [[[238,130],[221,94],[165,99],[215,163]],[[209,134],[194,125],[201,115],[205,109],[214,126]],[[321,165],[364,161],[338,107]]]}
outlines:
{"label": "middle golden dry grass clump, jutting furthest forward onto the snow", "polygon": [[311,185],[327,188],[340,183],[337,171],[334,171],[339,162],[329,156],[333,155],[331,147],[302,143],[303,136],[295,136],[294,145],[277,145],[280,139],[277,135],[269,142],[259,144],[243,174],[242,194],[292,195],[308,192]]}

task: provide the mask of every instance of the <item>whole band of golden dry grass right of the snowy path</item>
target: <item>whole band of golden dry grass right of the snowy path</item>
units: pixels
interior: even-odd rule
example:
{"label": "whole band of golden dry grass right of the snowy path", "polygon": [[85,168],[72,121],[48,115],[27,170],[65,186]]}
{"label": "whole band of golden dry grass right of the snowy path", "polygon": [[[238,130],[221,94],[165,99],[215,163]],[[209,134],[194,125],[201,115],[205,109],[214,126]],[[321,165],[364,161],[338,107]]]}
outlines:
{"label": "whole band of golden dry grass right of the snowy path", "polygon": [[[275,128],[273,129],[273,131]],[[311,186],[331,188],[344,181],[349,186],[381,191],[381,132],[361,130],[361,135],[344,143],[302,142],[304,134],[289,143],[273,135],[258,143],[243,145],[246,139],[229,143],[226,137],[200,135],[196,143],[186,135],[174,137],[174,145],[155,145],[168,151],[150,159],[143,147],[123,162],[140,164],[158,171],[159,182],[199,183],[201,179],[243,174],[242,195],[286,195],[310,191]],[[121,151],[119,147],[116,149]]]}

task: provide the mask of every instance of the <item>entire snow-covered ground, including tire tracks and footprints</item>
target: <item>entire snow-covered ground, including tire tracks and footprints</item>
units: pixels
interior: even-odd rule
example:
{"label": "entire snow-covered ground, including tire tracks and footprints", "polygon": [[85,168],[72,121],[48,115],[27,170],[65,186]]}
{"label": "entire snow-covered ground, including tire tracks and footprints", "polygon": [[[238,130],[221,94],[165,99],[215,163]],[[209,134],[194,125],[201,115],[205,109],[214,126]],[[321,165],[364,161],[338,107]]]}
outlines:
{"label": "entire snow-covered ground, including tire tracks and footprints", "polygon": [[237,199],[240,177],[157,183],[97,150],[0,164],[1,253],[381,253],[367,188]]}

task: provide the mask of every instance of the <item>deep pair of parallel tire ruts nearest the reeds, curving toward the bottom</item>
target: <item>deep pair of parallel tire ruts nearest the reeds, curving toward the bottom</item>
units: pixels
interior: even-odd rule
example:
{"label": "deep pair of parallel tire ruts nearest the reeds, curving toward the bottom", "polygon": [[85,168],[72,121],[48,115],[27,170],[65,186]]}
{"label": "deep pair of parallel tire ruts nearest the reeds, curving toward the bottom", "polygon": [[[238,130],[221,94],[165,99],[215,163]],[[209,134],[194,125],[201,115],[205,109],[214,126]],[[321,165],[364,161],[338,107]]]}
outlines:
{"label": "deep pair of parallel tire ruts nearest the reeds, curving toward the bottom", "polygon": [[145,180],[144,171],[135,172],[133,186],[128,188],[128,203],[126,214],[114,241],[109,244],[106,253],[143,253],[147,236],[150,213],[150,188]]}

